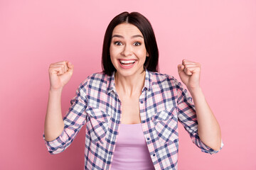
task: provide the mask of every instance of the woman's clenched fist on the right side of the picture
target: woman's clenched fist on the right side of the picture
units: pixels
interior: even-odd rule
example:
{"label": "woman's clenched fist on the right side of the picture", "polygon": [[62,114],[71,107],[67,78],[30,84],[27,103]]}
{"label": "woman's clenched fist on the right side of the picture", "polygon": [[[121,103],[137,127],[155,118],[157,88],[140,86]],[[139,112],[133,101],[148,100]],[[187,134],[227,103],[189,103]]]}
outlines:
{"label": "woman's clenched fist on the right side of the picture", "polygon": [[178,75],[188,90],[200,88],[200,72],[201,64],[198,62],[182,60],[182,64],[178,64]]}

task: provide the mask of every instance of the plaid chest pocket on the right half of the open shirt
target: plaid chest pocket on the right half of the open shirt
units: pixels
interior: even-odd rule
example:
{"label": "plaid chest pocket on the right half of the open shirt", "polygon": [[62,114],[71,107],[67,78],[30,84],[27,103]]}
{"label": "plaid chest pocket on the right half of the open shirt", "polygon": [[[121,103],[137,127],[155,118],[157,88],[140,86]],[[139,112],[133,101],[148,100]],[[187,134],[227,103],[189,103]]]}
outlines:
{"label": "plaid chest pocket on the right half of the open shirt", "polygon": [[156,113],[152,120],[159,142],[166,144],[178,139],[178,119],[175,108],[172,108],[171,111],[164,110]]}

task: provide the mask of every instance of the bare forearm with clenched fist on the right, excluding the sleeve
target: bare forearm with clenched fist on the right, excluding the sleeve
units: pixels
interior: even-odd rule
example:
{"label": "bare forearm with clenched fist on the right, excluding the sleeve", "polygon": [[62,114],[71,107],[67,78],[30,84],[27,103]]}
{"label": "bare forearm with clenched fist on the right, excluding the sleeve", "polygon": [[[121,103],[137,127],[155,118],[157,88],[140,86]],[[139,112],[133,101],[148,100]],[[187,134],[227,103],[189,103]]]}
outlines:
{"label": "bare forearm with clenched fist on the right, excluding the sleeve", "polygon": [[198,120],[198,135],[208,147],[218,150],[221,145],[221,133],[218,121],[210,110],[200,86],[201,65],[183,60],[178,65],[178,74],[183,84],[187,86],[193,98]]}

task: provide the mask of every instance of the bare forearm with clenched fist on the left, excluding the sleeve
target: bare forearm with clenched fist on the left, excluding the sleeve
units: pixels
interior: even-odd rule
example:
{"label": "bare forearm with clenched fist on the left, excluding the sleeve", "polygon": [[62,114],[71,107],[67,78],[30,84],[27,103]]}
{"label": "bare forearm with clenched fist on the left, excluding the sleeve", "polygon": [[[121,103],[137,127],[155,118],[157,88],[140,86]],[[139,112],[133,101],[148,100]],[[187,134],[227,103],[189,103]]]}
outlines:
{"label": "bare forearm with clenched fist on the left, excluding the sleeve", "polygon": [[64,122],[61,113],[61,93],[63,86],[68,83],[73,74],[73,64],[70,62],[56,62],[50,64],[50,90],[44,125],[46,141],[55,140],[63,131]]}

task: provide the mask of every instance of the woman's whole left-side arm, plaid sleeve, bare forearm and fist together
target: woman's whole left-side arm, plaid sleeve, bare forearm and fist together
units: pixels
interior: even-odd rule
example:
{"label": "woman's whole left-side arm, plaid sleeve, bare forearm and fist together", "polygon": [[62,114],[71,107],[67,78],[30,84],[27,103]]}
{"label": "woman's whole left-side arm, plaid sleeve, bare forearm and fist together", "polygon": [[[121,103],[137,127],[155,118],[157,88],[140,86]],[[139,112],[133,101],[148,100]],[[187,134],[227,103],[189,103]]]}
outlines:
{"label": "woman's whole left-side arm, plaid sleeve, bare forearm and fist together", "polygon": [[46,113],[45,132],[43,138],[50,154],[58,154],[68,148],[78,132],[85,125],[87,115],[86,86],[87,80],[78,87],[75,96],[70,101],[70,108],[65,117],[61,113],[61,91],[73,74],[73,65],[70,62],[51,64],[50,91]]}

